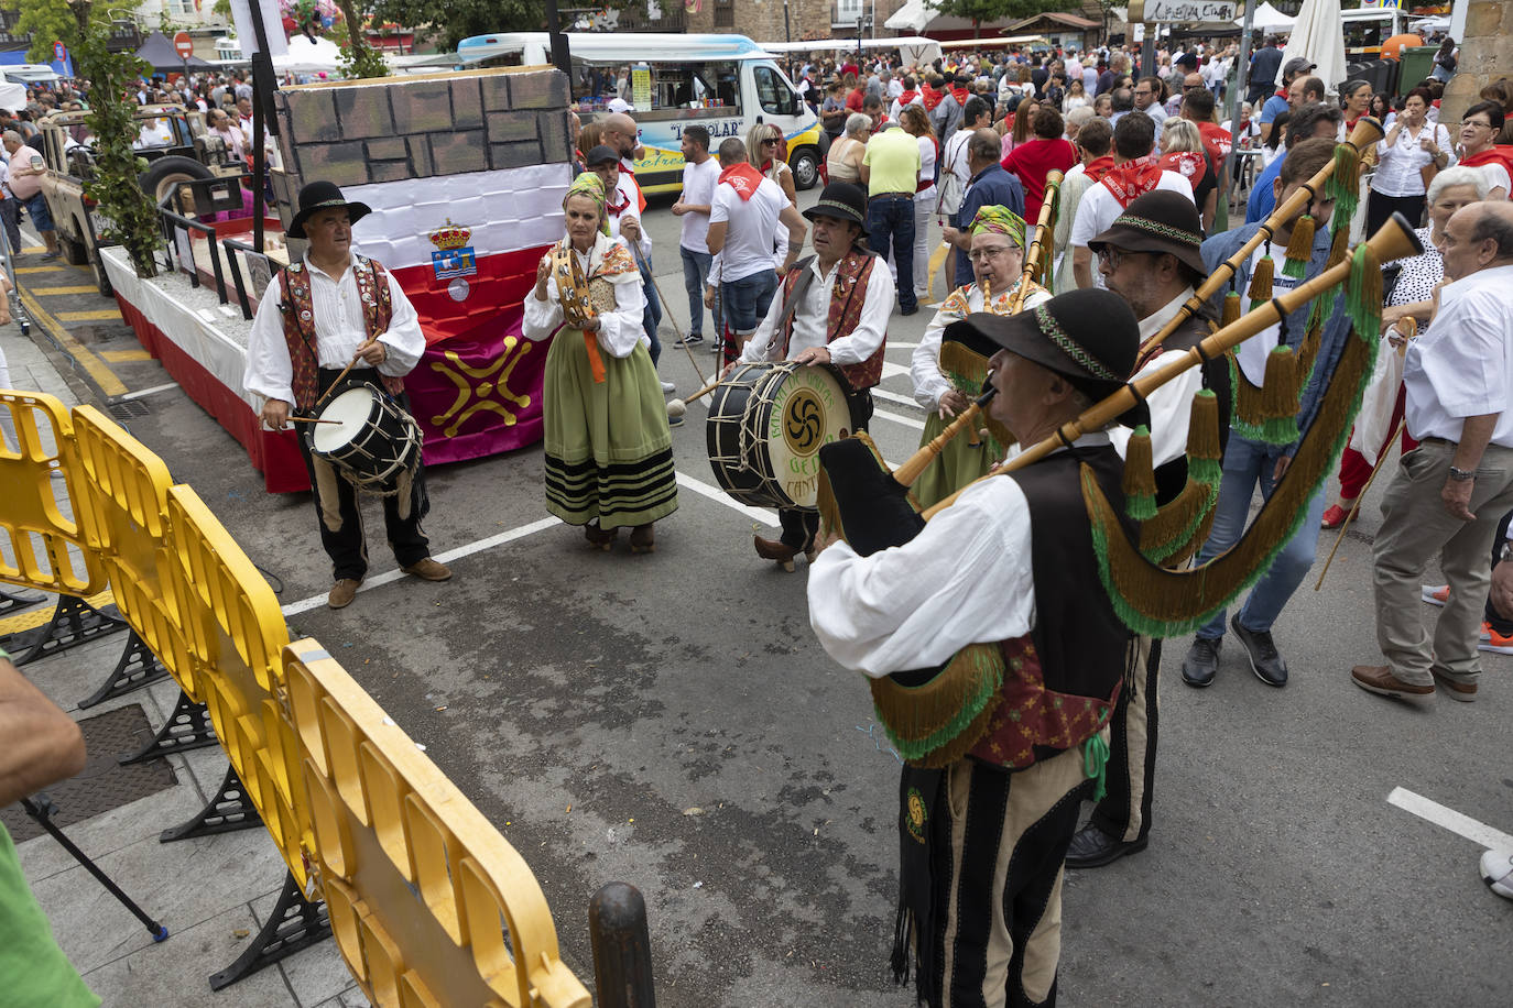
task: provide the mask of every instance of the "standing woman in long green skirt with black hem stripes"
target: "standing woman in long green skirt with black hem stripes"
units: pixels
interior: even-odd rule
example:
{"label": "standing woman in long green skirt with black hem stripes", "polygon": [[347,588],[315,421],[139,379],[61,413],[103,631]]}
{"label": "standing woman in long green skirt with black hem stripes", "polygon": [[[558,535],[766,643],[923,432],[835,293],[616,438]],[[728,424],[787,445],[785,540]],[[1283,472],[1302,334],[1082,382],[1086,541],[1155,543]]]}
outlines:
{"label": "standing woman in long green skirt with black hem stripes", "polygon": [[[567,234],[536,271],[523,332],[546,352],[546,509],[608,550],[655,549],[652,523],[678,509],[672,432],[642,328],[642,275],[605,227],[604,183],[583,174],[563,199]],[[555,335],[555,339],[552,339]]]}

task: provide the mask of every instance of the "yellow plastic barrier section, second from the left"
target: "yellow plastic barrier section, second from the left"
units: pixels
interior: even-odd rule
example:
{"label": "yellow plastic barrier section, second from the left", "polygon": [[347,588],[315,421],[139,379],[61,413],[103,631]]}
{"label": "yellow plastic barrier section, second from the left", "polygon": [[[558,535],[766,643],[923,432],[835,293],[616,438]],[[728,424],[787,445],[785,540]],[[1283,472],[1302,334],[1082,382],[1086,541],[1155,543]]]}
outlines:
{"label": "yellow plastic barrier section, second from the left", "polygon": [[185,694],[204,703],[188,630],[171,595],[168,465],[94,407],[76,407],[73,422],[86,481],[76,497],[80,523],[110,577],[115,604]]}

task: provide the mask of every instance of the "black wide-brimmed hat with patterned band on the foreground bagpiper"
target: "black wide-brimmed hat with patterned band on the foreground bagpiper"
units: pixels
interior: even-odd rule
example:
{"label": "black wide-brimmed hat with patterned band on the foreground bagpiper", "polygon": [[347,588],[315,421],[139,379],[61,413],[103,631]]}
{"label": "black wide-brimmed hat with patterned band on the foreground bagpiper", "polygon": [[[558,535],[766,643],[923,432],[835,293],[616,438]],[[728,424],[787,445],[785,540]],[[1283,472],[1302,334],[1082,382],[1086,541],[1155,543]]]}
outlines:
{"label": "black wide-brimmed hat with patterned band on the foreground bagpiper", "polygon": [[973,311],[944,339],[983,357],[1000,348],[1067,378],[1097,402],[1129,381],[1139,352],[1135,311],[1111,290],[1068,290],[1018,314]]}

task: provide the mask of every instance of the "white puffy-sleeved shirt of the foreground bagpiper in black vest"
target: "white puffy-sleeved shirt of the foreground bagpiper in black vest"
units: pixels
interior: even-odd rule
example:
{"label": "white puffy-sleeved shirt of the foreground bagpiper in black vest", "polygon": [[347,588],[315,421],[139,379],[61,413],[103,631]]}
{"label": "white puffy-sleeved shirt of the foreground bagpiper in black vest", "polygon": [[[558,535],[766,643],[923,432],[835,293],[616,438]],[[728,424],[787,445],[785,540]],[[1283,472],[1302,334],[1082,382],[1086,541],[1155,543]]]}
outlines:
{"label": "white puffy-sleeved shirt of the foreground bagpiper in black vest", "polygon": [[[1108,435],[1076,444],[1108,444]],[[820,553],[809,567],[809,626],[832,659],[873,679],[1024,636],[1035,627],[1032,535],[1020,485],[983,479],[903,546],[858,556],[837,543]]]}

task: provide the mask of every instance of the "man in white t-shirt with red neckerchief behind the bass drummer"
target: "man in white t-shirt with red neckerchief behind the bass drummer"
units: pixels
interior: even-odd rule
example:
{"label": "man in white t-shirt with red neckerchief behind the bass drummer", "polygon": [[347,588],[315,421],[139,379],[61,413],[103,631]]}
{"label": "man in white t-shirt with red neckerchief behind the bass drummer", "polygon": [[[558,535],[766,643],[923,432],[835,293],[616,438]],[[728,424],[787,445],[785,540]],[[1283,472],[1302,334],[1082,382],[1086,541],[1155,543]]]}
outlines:
{"label": "man in white t-shirt with red neckerchief behind the bass drummer", "polygon": [[714,187],[705,237],[714,254],[705,304],[713,305],[717,286],[725,322],[735,339],[734,348],[725,348],[728,357],[746,346],[778,292],[772,257],[779,222],[788,228],[788,255],[781,271],[785,274],[803,251],[808,227],[782,187],[746,160],[746,144],[728,138],[720,144],[720,184]]}

